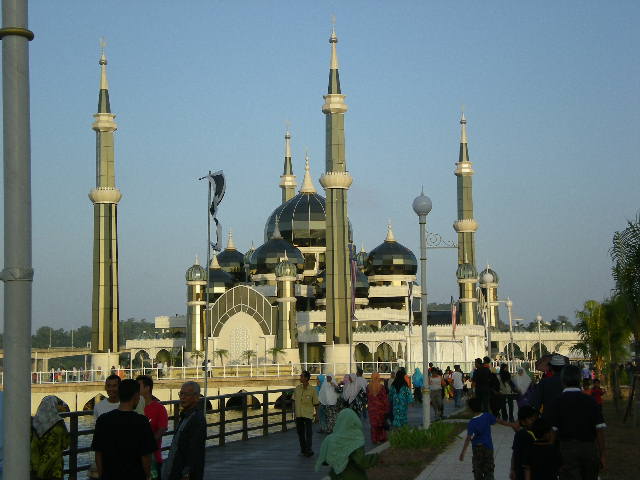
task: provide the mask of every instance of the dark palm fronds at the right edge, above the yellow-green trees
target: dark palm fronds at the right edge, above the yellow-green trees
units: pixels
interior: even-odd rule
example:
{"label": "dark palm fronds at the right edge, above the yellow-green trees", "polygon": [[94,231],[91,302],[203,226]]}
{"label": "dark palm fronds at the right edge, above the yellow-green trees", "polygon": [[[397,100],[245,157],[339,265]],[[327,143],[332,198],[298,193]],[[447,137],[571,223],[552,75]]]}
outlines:
{"label": "dark palm fronds at the right edge, above the yellow-green trees", "polygon": [[621,302],[628,312],[628,323],[635,343],[636,365],[640,364],[640,215],[627,222],[627,228],[613,235],[609,251],[613,260],[613,279]]}

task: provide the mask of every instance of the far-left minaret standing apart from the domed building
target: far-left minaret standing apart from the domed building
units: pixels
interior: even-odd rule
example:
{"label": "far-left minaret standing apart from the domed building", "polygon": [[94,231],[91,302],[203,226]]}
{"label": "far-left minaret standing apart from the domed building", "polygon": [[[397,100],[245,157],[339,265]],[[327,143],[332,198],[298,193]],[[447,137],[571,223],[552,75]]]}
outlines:
{"label": "far-left minaret standing apart from the domed building", "polygon": [[122,194],[116,188],[113,132],[117,125],[109,105],[104,43],[102,47],[98,113],[92,125],[96,132],[96,188],[89,193],[93,202],[91,350],[96,353],[119,351],[118,202]]}

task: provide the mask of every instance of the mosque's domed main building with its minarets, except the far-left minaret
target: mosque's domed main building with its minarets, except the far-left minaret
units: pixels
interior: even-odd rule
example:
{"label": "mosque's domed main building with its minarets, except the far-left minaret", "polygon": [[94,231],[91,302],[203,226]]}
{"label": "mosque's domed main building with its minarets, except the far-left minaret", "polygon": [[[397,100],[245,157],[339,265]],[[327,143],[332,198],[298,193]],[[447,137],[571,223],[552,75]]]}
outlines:
{"label": "mosque's domed main building with its minarets, except the far-left minaret", "polygon": [[[296,192],[287,131],[279,182],[282,201],[266,216],[264,243],[243,253],[229,233],[226,248],[212,257],[208,269],[197,262],[187,269],[186,351],[209,348],[209,358],[220,361],[214,352],[222,350],[229,364],[246,363],[247,351],[280,363],[422,360],[415,254],[395,238],[391,225],[377,247],[356,252],[347,216],[352,178],[344,158],[347,105],[340,86],[335,31],[329,42],[329,87],[322,107],[327,122],[326,173],[320,178],[324,192],[314,184],[308,156]],[[428,315],[429,358],[449,362],[485,354],[485,329],[476,324],[476,299],[478,293],[497,298],[498,285],[493,270],[479,277],[474,266],[477,223],[464,115],[460,123],[455,170],[458,219],[454,223],[460,308],[455,338],[451,311]],[[477,290],[479,278],[481,290]],[[497,304],[487,312],[488,322],[495,326]]]}

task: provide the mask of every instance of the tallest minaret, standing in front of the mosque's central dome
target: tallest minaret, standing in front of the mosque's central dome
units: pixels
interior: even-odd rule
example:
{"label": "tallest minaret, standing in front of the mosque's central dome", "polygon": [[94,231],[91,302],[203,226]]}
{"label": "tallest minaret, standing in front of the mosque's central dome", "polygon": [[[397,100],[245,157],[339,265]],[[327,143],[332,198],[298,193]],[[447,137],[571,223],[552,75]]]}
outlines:
{"label": "tallest minaret, standing in front of the mosque's central dome", "polygon": [[[338,74],[338,37],[335,28],[329,38],[331,64],[329,89],[324,96],[322,112],[326,115],[326,173],[320,178],[325,189],[327,211],[326,298],[327,348],[325,361],[349,361],[349,331],[351,317],[351,277],[349,269],[349,227],[347,219],[347,190],[352,178],[347,171],[344,144],[344,114],[347,105],[340,91]],[[336,348],[336,345],[346,346]]]}

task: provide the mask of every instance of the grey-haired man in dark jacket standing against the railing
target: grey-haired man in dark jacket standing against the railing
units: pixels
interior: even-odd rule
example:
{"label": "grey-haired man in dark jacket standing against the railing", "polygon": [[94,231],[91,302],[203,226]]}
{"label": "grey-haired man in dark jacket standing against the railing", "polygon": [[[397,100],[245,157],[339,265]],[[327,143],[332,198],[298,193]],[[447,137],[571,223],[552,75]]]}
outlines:
{"label": "grey-haired man in dark jacket standing against the railing", "polygon": [[162,480],[202,480],[207,421],[200,385],[186,382],[180,387],[180,421],[173,434],[169,456],[162,466]]}

